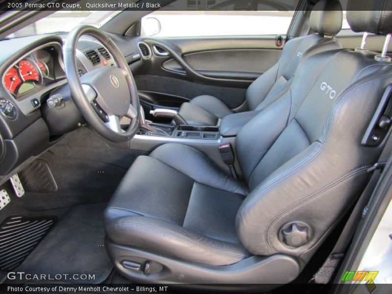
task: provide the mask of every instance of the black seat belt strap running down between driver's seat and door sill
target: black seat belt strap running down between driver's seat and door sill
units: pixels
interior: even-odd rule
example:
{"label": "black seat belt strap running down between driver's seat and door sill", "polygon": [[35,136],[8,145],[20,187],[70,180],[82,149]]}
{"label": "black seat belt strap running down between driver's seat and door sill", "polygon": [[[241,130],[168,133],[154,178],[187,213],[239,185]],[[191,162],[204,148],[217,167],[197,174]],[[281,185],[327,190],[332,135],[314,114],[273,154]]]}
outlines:
{"label": "black seat belt strap running down between driver's seat and door sill", "polygon": [[344,228],[342,230],[341,235],[339,236],[338,241],[336,242],[334,248],[332,249],[331,254],[325,260],[321,268],[316,272],[314,277],[309,281],[310,283],[316,284],[327,284],[336,269],[339,266],[340,261],[344,257],[344,252],[354,236],[356,228],[358,227],[359,222],[367,213],[367,207],[370,200],[370,197],[373,194],[373,191],[379,182],[380,175],[382,170],[384,169],[387,161],[392,155],[392,136],[391,131],[388,135],[387,143],[383,151],[381,152],[380,158],[377,163],[375,163],[371,168],[368,169],[368,172],[373,172],[366,186],[365,190],[362,192],[361,196],[359,196],[357,203],[354,206],[354,209],[351,212],[350,217],[348,218]]}

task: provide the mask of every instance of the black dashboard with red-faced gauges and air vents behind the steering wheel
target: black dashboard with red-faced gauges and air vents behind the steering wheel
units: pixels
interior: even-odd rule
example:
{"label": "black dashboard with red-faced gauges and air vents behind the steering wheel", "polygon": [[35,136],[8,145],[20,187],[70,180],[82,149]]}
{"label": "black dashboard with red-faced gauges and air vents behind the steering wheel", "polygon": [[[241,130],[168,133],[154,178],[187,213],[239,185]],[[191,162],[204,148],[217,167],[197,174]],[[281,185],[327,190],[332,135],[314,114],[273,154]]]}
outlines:
{"label": "black dashboard with red-faced gauges and air vents behind the steering wheel", "polygon": [[[0,41],[0,184],[67,132],[85,124],[64,70],[66,37],[38,35]],[[143,61],[137,43],[120,39],[117,44],[131,70],[140,69]],[[82,36],[75,52],[80,77],[116,65],[107,49],[90,36]],[[50,108],[47,100],[56,94],[64,97],[64,106]]]}

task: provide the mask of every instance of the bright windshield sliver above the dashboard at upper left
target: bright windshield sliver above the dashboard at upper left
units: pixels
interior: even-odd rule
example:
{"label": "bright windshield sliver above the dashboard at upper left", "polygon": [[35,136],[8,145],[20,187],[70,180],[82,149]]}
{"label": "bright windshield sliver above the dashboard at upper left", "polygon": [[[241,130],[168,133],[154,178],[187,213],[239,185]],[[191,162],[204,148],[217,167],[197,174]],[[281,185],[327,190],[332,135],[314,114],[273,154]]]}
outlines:
{"label": "bright windshield sliver above the dashboard at upper left", "polygon": [[39,21],[8,36],[8,38],[25,37],[58,32],[69,32],[76,25],[87,24],[100,27],[110,21],[121,11],[56,11]]}

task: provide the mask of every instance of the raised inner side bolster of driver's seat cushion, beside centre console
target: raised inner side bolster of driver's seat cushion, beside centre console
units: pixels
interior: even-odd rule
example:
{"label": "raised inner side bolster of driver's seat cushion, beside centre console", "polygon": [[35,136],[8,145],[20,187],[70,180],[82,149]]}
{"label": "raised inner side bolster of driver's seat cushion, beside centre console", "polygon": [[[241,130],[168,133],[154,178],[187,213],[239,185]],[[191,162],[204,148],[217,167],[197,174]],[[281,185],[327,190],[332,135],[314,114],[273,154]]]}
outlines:
{"label": "raised inner side bolster of driver's seat cushion, beside centre console", "polygon": [[206,155],[188,145],[168,143],[156,148],[150,156],[201,184],[243,196],[249,193],[244,183],[229,177]]}

